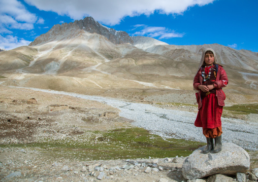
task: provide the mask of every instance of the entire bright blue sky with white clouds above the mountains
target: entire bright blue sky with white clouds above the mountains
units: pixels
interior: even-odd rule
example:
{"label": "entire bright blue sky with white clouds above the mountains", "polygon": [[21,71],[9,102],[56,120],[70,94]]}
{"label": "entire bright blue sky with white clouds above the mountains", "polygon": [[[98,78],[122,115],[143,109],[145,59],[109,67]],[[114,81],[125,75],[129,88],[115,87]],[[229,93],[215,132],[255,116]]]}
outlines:
{"label": "entire bright blue sky with white clouds above the mountains", "polygon": [[92,16],[171,45],[221,44],[258,52],[257,0],[1,0],[0,48],[28,45],[53,25]]}

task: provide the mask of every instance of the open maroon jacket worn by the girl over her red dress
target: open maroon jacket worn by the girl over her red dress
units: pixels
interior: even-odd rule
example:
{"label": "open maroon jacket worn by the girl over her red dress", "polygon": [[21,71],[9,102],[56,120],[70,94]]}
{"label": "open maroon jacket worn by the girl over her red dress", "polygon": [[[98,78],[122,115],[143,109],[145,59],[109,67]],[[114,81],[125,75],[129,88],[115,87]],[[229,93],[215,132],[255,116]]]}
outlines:
{"label": "open maroon jacket worn by the girl over her red dress", "polygon": [[[225,93],[222,91],[222,88],[228,85],[228,82],[229,82],[228,76],[222,66],[217,65],[216,67],[217,67],[217,77],[216,77],[216,82],[214,83],[214,86],[216,88],[216,96],[218,98],[218,105],[224,106]],[[196,93],[198,110],[200,110],[200,108],[202,107],[201,90],[198,89],[198,86],[202,85],[203,83],[201,69],[202,68],[199,69],[199,71],[195,76],[195,79],[193,80],[193,88],[195,88],[196,90],[199,90],[199,92]]]}

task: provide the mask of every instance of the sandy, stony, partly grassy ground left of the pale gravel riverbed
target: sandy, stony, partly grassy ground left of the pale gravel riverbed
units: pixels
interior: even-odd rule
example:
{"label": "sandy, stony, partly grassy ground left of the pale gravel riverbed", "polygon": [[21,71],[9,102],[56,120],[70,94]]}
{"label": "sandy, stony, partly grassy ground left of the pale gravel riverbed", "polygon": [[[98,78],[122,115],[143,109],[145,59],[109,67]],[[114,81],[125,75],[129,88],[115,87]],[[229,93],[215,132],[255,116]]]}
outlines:
{"label": "sandy, stony, partly grassy ground left of the pale gravel riverbed", "polygon": [[[204,145],[164,140],[98,101],[2,85],[0,93],[1,181],[181,181],[183,160]],[[194,105],[152,104],[196,113]],[[248,153],[258,167],[257,152]]]}

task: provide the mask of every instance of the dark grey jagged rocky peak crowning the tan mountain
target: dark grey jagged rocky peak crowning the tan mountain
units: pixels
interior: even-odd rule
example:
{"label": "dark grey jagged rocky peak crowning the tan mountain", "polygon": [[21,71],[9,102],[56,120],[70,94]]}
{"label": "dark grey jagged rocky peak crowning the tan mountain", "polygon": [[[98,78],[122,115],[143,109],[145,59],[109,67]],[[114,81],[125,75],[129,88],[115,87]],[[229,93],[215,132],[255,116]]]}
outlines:
{"label": "dark grey jagged rocky peak crowning the tan mountain", "polygon": [[95,21],[92,17],[85,17],[82,20],[75,20],[71,23],[63,23],[54,25],[47,33],[40,35],[29,46],[36,46],[44,44],[49,41],[54,41],[56,35],[65,34],[69,30],[84,30],[90,33],[98,33],[106,37],[113,44],[134,44],[133,39],[125,31],[117,31],[113,28],[108,28],[98,21]]}

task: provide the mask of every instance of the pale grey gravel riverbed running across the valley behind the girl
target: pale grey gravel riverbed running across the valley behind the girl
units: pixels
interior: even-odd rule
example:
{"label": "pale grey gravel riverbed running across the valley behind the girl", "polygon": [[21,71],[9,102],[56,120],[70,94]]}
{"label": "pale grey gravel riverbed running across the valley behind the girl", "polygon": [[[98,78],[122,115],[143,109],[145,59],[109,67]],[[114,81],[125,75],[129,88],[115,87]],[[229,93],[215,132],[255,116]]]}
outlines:
{"label": "pale grey gravel riverbed running across the valley behind the girl", "polygon": [[[206,138],[202,134],[202,128],[193,125],[196,113],[167,110],[150,104],[133,103],[114,98],[36,88],[29,89],[104,102],[119,108],[121,110],[119,115],[134,120],[133,125],[145,128],[164,138],[173,137],[206,142]],[[247,150],[258,150],[258,122],[228,118],[222,118],[221,120],[223,128],[222,142],[233,142]]]}

